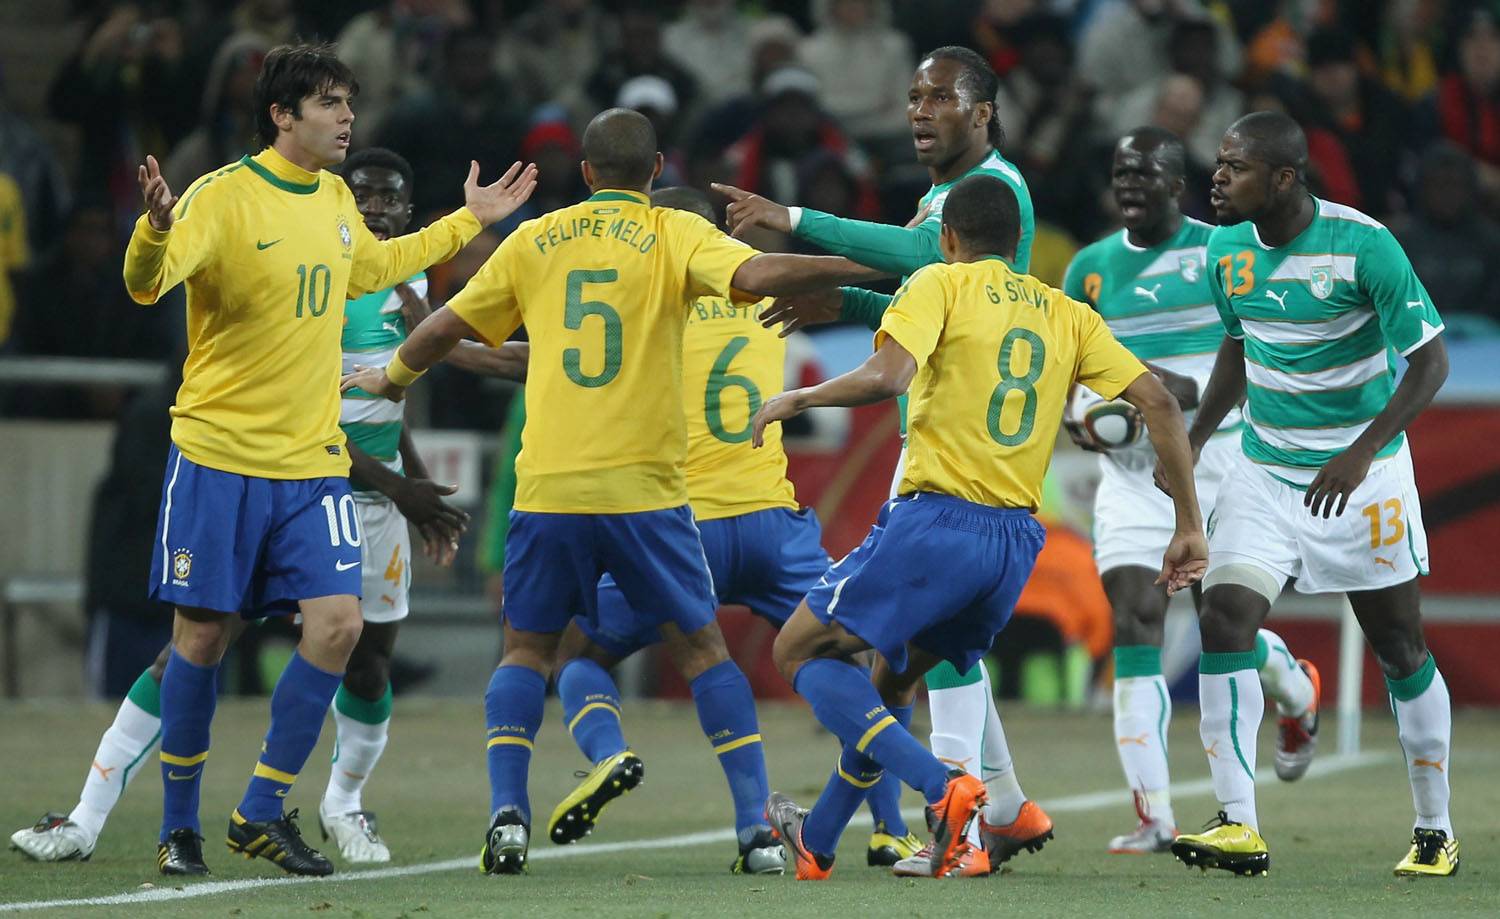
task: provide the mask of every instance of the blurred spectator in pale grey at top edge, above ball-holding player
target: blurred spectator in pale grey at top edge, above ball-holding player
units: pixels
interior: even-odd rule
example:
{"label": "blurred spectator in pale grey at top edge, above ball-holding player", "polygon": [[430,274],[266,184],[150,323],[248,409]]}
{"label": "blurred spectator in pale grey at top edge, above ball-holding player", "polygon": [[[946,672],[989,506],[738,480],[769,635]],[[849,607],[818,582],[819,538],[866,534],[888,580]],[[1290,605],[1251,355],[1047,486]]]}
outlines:
{"label": "blurred spectator in pale grey at top edge, above ball-holding player", "polygon": [[1095,112],[1101,123],[1110,123],[1116,105],[1131,90],[1172,72],[1168,46],[1173,27],[1182,19],[1214,22],[1220,75],[1226,79],[1239,76],[1239,39],[1226,22],[1209,16],[1198,0],[1114,3],[1089,19],[1078,42],[1078,73],[1098,91]]}

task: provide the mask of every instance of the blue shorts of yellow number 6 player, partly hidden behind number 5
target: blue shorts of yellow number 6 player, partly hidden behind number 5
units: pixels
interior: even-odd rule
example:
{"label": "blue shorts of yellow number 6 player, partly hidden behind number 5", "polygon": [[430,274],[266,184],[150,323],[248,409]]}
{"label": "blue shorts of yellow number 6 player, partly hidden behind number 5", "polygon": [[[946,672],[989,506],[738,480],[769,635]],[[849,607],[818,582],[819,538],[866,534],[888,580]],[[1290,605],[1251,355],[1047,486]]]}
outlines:
{"label": "blue shorts of yellow number 6 player, partly hidden behind number 5", "polygon": [[[796,604],[828,570],[822,526],[813,508],[770,508],[704,520],[698,529],[704,535],[704,556],[718,606],[748,606],[777,628],[786,625]],[[656,625],[626,601],[620,585],[608,574],[598,582],[597,624],[579,618],[579,627],[591,642],[621,660],[662,640]]]}

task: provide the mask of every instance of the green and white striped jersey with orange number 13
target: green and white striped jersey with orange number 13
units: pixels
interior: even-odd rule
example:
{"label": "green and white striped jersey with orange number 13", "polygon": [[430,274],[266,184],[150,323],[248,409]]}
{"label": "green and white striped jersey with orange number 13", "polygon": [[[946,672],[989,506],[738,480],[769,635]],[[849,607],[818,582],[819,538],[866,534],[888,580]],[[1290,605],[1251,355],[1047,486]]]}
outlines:
{"label": "green and white striped jersey with orange number 13", "polygon": [[[1395,391],[1395,354],[1443,330],[1412,262],[1380,222],[1317,201],[1294,240],[1272,249],[1251,222],[1209,237],[1209,289],[1245,342],[1245,456],[1306,486]],[[1406,435],[1380,448],[1394,456]]]}

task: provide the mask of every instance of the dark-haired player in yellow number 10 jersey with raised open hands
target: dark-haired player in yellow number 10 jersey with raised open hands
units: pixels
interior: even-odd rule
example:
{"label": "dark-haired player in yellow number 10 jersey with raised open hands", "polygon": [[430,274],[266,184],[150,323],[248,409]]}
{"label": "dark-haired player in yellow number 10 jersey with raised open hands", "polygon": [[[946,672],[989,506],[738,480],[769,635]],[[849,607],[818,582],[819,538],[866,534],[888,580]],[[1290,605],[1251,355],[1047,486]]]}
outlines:
{"label": "dark-haired player in yellow number 10 jersey with raised open hands", "polygon": [[214,673],[231,616],[300,610],[302,642],[272,696],[272,727],[228,846],[294,874],[330,874],[284,813],[360,636],[360,541],[339,430],[344,301],[444,261],[536,184],[520,165],[418,234],[376,240],[324,168],[344,160],[358,84],[328,46],[280,46],[255,82],[266,148],[194,181],[182,199],[154,157],[147,213],[124,256],[142,304],[188,288],[188,361],[152,564],[152,595],[177,607],[162,676],[158,868],[206,874],[198,787]]}

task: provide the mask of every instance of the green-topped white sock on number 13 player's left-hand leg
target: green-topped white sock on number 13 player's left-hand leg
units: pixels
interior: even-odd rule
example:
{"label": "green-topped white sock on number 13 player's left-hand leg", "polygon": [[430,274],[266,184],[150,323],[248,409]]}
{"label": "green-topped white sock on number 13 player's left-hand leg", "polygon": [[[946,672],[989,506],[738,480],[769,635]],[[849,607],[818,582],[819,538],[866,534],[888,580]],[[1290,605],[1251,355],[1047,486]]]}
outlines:
{"label": "green-topped white sock on number 13 player's left-hand leg", "polygon": [[[1252,669],[1254,652],[1209,654],[1198,663],[1198,736],[1209,756],[1214,795],[1226,816],[1258,829],[1256,819],[1256,735],[1266,696]],[[1240,666],[1236,666],[1240,664]]]}

